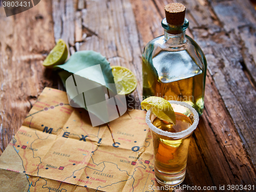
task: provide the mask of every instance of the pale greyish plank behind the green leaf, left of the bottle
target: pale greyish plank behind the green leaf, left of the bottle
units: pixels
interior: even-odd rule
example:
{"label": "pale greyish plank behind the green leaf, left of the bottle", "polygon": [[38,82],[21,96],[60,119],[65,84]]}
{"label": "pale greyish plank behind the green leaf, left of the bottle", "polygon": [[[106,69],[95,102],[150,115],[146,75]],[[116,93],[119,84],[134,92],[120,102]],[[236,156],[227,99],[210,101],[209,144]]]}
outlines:
{"label": "pale greyish plank behind the green leaf, left of the bottle", "polygon": [[112,66],[131,69],[137,77],[138,86],[127,100],[139,108],[142,93],[141,47],[130,2],[98,0],[88,1],[86,5],[86,9],[82,9],[85,39],[79,50],[100,52]]}

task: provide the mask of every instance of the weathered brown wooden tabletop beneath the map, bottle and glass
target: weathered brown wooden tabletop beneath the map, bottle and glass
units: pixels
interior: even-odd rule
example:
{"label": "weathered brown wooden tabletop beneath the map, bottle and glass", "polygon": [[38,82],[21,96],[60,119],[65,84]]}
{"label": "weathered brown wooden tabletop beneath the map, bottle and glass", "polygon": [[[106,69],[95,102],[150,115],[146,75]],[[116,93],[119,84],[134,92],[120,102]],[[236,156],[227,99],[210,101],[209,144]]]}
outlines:
{"label": "weathered brown wooden tabletop beneath the map, bottle and glass", "polygon": [[[1,4],[0,154],[42,89],[62,89],[58,75],[42,66],[59,38],[71,54],[94,50],[111,65],[130,68],[139,82],[138,104],[141,54],[149,40],[163,34],[163,7],[171,2],[42,0],[10,17]],[[211,191],[221,191],[220,185],[225,191],[240,191],[227,190],[227,185],[256,187],[256,11],[248,0],[179,3],[187,7],[187,34],[208,62],[204,114],[190,143],[183,184],[217,187]]]}

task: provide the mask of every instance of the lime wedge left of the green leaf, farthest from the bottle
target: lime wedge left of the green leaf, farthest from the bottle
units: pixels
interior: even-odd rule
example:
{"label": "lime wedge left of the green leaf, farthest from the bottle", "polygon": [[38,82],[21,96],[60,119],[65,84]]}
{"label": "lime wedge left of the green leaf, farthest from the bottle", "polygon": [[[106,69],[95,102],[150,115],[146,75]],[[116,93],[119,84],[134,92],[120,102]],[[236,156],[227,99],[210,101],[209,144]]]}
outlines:
{"label": "lime wedge left of the green leaf, farthest from the bottle", "polygon": [[47,68],[52,68],[56,65],[62,65],[68,57],[68,49],[65,41],[59,39],[56,46],[47,55],[46,59],[42,63]]}

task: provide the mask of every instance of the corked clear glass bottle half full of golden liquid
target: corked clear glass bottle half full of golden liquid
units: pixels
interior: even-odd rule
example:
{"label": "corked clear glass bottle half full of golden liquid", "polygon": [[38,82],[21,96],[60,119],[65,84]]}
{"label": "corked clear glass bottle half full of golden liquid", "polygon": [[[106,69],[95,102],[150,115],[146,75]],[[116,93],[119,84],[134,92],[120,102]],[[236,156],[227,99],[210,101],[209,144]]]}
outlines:
{"label": "corked clear glass bottle half full of golden liquid", "polygon": [[[173,11],[177,4],[178,9]],[[181,6],[184,5],[172,3],[165,6],[164,35],[151,40],[144,48],[143,97],[184,101],[202,115],[207,63],[196,41],[185,35],[188,20],[185,9],[178,12]]]}

